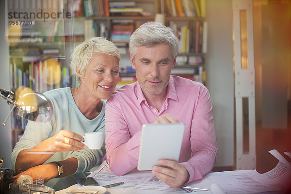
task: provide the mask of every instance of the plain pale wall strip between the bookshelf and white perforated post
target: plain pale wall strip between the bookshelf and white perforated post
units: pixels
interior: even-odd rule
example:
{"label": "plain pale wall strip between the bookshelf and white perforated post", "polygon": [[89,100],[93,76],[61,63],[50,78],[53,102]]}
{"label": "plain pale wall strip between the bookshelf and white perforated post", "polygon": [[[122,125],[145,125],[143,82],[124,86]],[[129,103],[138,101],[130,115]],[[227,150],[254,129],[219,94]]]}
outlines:
{"label": "plain pale wall strip between the bookshelf and white perforated post", "polygon": [[234,164],[232,0],[207,0],[207,88],[218,145],[216,166]]}

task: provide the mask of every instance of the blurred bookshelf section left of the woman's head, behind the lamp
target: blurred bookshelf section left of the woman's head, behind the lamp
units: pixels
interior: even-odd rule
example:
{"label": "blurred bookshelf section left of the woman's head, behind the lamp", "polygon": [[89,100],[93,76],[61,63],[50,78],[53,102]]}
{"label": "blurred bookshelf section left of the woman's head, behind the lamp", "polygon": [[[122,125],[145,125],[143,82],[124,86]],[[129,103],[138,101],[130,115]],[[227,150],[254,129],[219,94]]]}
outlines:
{"label": "blurred bookshelf section left of the woman's head, behind the lamp", "polygon": [[[75,76],[69,68],[70,54],[75,46],[73,1],[9,0],[5,6],[9,89],[15,92],[17,88],[29,87],[43,93],[60,87],[74,87]],[[13,113],[13,147],[26,124],[27,120]]]}

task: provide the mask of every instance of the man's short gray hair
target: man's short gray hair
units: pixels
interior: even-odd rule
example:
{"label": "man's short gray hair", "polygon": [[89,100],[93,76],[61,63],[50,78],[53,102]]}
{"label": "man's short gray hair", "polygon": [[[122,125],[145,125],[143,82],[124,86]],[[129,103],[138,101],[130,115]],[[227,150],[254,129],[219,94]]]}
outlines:
{"label": "man's short gray hair", "polygon": [[131,35],[129,39],[130,55],[134,60],[138,47],[153,47],[160,43],[167,44],[170,47],[172,59],[177,56],[178,38],[172,29],[160,22],[147,22],[141,25]]}

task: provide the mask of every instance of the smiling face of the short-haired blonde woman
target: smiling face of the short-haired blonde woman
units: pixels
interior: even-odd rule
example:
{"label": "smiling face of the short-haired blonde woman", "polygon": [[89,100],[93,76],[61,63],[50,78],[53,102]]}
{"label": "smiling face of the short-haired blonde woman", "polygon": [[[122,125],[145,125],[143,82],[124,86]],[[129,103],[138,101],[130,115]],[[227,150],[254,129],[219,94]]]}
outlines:
{"label": "smiling face of the short-haired blonde woman", "polygon": [[105,53],[94,53],[86,71],[81,74],[81,85],[89,95],[97,99],[108,99],[119,81],[119,60]]}

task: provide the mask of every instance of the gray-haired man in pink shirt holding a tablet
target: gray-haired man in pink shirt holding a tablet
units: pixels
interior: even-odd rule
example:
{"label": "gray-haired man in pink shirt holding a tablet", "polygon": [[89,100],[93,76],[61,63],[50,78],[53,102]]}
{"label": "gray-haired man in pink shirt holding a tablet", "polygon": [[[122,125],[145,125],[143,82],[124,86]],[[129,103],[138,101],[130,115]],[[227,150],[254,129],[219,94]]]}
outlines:
{"label": "gray-haired man in pink shirt holding a tablet", "polygon": [[112,172],[121,176],[137,167],[143,124],[181,122],[185,131],[179,161],[160,160],[161,166],[154,166],[152,173],[173,188],[202,178],[217,155],[208,90],[199,82],[171,76],[178,39],[161,23],[148,22],[137,29],[129,51],[137,82],[116,90],[105,107]]}

